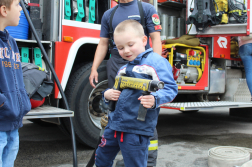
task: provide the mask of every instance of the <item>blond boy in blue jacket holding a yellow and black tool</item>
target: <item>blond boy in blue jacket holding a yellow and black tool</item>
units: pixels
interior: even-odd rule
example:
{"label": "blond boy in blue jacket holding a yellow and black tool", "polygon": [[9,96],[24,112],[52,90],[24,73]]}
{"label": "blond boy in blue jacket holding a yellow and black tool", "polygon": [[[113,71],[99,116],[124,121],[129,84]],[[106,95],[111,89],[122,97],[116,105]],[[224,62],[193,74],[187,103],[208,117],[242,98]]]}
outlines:
{"label": "blond boy in blue jacket holding a yellow and black tool", "polygon": [[[114,31],[114,42],[119,54],[129,63],[123,66],[118,76],[163,81],[164,89],[142,96],[142,91],[123,89],[122,92],[108,89],[105,101],[117,101],[109,114],[102,142],[96,151],[96,166],[111,167],[116,154],[121,150],[126,167],[146,167],[149,137],[157,124],[159,105],[171,102],[178,92],[169,62],[145,50],[147,37],[143,27],[135,20],[125,20]],[[137,120],[139,105],[148,108],[145,121]]]}

